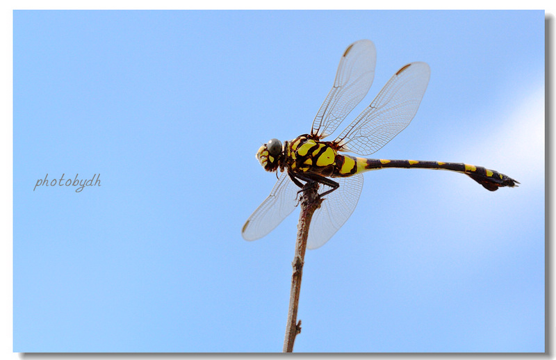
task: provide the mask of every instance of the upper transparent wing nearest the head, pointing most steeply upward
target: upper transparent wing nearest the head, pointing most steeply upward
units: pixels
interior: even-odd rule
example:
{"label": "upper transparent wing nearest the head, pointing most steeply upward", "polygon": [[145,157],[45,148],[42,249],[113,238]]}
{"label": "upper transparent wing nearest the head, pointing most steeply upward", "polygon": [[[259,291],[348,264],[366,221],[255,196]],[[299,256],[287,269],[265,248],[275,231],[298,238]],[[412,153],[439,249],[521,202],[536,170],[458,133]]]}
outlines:
{"label": "upper transparent wing nearest the head, pointing most steeply upward", "polygon": [[370,40],[359,40],[345,49],[334,86],[313,120],[311,135],[325,138],[338,128],[367,95],[375,77],[377,51]]}

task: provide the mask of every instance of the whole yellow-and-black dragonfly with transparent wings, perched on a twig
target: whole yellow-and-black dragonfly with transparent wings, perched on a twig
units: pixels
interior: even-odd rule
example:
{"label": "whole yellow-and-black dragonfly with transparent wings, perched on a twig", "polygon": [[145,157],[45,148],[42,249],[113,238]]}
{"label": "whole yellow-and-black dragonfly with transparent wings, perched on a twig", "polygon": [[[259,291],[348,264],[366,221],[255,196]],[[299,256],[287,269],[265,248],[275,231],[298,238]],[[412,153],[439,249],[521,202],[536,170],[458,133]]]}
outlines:
{"label": "whole yellow-and-black dragonfly with transparent wings, perched on a twig", "polygon": [[[368,156],[377,152],[413,120],[430,79],[427,63],[401,67],[363,112],[335,140],[345,117],[367,95],[375,76],[376,49],[370,40],[350,44],[340,59],[334,85],[313,120],[311,133],[282,144],[271,139],[256,152],[268,172],[281,172],[270,195],[247,219],[241,234],[245,240],[267,235],[298,204],[298,193],[318,186],[323,199],[313,214],[307,248],[321,247],[352,215],[363,188],[363,172],[387,167],[450,170],[466,174],[490,191],[514,187],[519,182],[485,167],[443,161],[387,160]],[[301,190],[300,190],[301,189]]]}

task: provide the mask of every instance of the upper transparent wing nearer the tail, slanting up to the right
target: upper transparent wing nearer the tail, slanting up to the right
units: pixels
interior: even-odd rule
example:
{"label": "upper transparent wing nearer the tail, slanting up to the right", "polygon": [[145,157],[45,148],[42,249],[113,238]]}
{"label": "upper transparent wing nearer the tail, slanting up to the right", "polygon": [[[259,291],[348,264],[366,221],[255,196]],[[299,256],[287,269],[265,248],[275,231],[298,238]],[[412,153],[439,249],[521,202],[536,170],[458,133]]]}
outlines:
{"label": "upper transparent wing nearer the tail, slanting up to the right", "polygon": [[334,141],[342,151],[363,156],[373,154],[409,125],[429,79],[430,67],[426,63],[405,65]]}

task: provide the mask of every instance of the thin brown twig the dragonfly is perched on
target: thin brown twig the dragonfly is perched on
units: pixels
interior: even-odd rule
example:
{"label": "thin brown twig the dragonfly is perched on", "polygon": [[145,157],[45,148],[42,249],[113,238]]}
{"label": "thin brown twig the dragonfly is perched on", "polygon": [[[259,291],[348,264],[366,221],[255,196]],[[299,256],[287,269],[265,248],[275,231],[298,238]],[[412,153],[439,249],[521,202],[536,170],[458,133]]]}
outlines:
{"label": "thin brown twig the dragonfly is perched on", "polygon": [[301,320],[297,321],[297,304],[300,300],[301,277],[307,247],[307,235],[313,213],[319,208],[322,199],[318,195],[318,184],[303,191],[300,200],[300,221],[297,224],[297,240],[295,241],[295,256],[291,263],[293,274],[291,277],[290,306],[288,309],[288,323],[286,325],[286,338],[284,338],[284,352],[293,352],[295,336],[301,332]]}

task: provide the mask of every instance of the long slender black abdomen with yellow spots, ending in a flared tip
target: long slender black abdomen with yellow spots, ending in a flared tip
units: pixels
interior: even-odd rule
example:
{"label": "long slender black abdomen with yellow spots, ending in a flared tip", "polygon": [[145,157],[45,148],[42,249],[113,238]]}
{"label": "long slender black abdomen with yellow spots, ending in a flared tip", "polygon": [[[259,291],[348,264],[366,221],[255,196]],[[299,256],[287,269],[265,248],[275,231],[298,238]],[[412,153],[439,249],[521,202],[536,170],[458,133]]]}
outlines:
{"label": "long slender black abdomen with yellow spots, ending in a flared tip", "polygon": [[[516,186],[518,181],[508,177],[496,170],[489,170],[486,167],[469,165],[466,163],[445,163],[443,161],[418,161],[418,160],[386,160],[378,158],[359,158],[354,156],[342,156],[343,163],[338,167],[334,177],[349,177],[352,174],[369,170],[379,170],[386,167],[398,168],[421,168],[433,170],[450,170],[466,174],[471,179],[480,183],[487,190],[498,190],[505,186]],[[338,163],[338,161],[336,161]]]}

